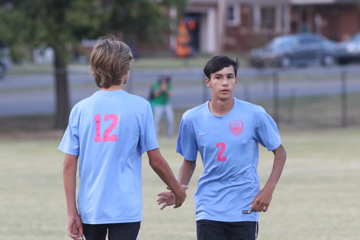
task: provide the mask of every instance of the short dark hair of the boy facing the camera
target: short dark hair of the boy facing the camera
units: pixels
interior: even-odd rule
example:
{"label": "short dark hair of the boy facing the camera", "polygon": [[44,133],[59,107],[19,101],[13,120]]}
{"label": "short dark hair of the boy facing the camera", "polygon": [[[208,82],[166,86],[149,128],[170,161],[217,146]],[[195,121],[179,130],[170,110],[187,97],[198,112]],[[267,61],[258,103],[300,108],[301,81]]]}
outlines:
{"label": "short dark hair of the boy facing the camera", "polygon": [[204,73],[206,77],[210,79],[211,73],[215,73],[223,68],[230,67],[230,65],[234,67],[236,77],[240,65],[239,59],[236,58],[234,61],[234,59],[229,58],[228,56],[214,56],[212,59],[208,60],[204,67]]}

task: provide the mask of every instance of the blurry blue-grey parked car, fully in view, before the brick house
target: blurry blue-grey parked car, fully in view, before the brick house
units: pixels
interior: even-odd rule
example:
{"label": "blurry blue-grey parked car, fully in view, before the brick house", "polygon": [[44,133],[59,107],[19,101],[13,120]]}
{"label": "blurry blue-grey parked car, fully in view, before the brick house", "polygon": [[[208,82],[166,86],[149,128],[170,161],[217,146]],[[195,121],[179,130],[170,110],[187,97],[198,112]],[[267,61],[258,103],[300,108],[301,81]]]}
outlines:
{"label": "blurry blue-grey parked car, fully in view, before the brick house", "polygon": [[282,35],[265,47],[251,50],[249,60],[253,67],[331,66],[337,60],[335,45],[314,33]]}

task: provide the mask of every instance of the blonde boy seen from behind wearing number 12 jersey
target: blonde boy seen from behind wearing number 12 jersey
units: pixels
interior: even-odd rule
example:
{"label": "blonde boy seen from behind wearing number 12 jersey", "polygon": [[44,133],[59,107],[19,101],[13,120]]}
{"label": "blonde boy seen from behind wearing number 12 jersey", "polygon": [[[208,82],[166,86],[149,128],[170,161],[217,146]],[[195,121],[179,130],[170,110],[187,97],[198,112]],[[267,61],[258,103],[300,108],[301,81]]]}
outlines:
{"label": "blonde boy seen from behind wearing number 12 jersey", "polygon": [[[142,220],[141,154],[175,194],[175,207],[186,198],[162,157],[150,104],[123,91],[134,58],[129,46],[105,37],[94,46],[90,73],[101,88],[71,110],[59,150],[64,160],[68,234],[72,239],[136,240]],[[80,186],[76,208],[76,170]]]}

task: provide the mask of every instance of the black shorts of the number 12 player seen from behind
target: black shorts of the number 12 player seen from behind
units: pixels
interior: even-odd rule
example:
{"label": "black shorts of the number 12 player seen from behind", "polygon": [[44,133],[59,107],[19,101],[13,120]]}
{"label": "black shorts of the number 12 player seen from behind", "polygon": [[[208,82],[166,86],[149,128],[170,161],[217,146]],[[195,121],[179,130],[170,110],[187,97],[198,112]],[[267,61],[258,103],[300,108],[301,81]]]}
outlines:
{"label": "black shorts of the number 12 player seen from behind", "polygon": [[105,240],[109,230],[109,240],[138,240],[140,222],[87,224],[82,223],[83,240]]}

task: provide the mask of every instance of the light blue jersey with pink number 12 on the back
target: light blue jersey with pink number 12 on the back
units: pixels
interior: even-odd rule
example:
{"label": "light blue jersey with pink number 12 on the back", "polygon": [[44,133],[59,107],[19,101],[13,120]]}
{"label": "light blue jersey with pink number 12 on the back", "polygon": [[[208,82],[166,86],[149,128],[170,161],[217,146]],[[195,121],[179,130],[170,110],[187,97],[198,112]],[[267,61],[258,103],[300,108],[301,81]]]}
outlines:
{"label": "light blue jersey with pink number 12 on the back", "polygon": [[83,223],[141,221],[141,154],[156,148],[152,110],[139,96],[98,91],[73,107],[58,149],[79,156]]}

